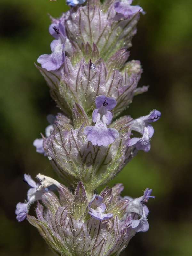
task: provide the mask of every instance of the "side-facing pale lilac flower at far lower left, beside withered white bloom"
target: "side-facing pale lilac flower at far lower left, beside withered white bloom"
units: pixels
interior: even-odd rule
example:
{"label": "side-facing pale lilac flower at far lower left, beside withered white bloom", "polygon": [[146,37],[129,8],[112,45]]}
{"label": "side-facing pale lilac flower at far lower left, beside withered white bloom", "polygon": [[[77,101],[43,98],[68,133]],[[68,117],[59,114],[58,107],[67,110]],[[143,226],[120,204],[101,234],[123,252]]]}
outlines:
{"label": "side-facing pale lilac flower at far lower left, beside withered white bloom", "polygon": [[15,214],[17,214],[16,219],[19,222],[26,218],[26,213],[29,212],[30,205],[41,199],[43,193],[46,192],[44,188],[39,189],[39,185],[31,178],[30,175],[24,174],[24,181],[26,181],[31,188],[29,188],[27,192],[27,203],[18,203],[16,205]]}

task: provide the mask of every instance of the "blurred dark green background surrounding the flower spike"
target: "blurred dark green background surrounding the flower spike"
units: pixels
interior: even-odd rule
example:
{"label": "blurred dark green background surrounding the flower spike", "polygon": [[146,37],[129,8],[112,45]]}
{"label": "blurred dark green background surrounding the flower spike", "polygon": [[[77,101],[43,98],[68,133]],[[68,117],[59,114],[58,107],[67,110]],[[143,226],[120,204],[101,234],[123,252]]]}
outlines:
{"label": "blurred dark green background surrounding the flower spike", "polygon": [[[133,2],[134,3],[134,2]],[[126,110],[133,118],[150,110],[162,112],[154,123],[148,153],[138,155],[110,185],[124,184],[124,195],[141,196],[147,187],[150,228],[132,238],[125,256],[192,255],[192,6],[191,0],[140,0],[141,15],[130,59],[144,69],[139,86],[149,91],[136,96]],[[15,206],[26,198],[23,174],[41,172],[57,179],[33,140],[47,126],[46,116],[58,109],[43,77],[34,66],[50,52],[50,20],[66,11],[64,0],[0,0],[0,254],[51,256],[52,252],[26,220],[18,223]],[[33,208],[31,207],[31,214]]]}

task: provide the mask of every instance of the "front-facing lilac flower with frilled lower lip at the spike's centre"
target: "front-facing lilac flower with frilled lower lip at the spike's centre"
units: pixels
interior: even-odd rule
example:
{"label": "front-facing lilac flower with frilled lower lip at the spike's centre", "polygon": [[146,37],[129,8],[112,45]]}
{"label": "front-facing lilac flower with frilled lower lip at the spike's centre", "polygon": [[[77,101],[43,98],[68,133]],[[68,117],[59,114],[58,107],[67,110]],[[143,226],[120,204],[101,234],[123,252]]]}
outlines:
{"label": "front-facing lilac flower with frilled lower lip at the spike's centre", "polygon": [[116,106],[116,100],[104,95],[100,95],[95,99],[96,109],[92,114],[92,120],[96,123],[94,126],[86,126],[83,133],[87,135],[87,140],[93,145],[108,146],[119,137],[119,133],[115,128],[108,128],[112,120],[112,110]]}

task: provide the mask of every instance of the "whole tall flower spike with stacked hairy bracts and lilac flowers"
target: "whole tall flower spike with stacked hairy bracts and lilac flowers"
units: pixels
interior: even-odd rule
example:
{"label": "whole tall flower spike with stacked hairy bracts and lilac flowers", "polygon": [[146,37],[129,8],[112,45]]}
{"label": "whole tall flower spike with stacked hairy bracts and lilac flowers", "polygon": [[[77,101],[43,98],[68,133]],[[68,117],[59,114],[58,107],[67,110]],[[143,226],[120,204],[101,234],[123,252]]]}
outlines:
{"label": "whole tall flower spike with stacked hairy bracts and lilac flowers", "polygon": [[[117,256],[136,232],[149,228],[145,203],[154,198],[151,189],[134,199],[120,196],[122,184],[96,192],[139,149],[149,151],[151,123],[161,115],[154,110],[134,120],[118,118],[135,95],[148,90],[137,88],[140,61],[128,60],[144,14],[132,1],[66,0],[70,10],[49,16],[51,54],[41,55],[37,68],[64,113],[47,116],[46,136],[33,145],[69,187],[43,174],[38,182],[25,174],[31,188],[15,213],[19,222],[27,217],[59,256]],[[132,138],[132,131],[141,138]],[[36,217],[29,215],[35,201]]]}

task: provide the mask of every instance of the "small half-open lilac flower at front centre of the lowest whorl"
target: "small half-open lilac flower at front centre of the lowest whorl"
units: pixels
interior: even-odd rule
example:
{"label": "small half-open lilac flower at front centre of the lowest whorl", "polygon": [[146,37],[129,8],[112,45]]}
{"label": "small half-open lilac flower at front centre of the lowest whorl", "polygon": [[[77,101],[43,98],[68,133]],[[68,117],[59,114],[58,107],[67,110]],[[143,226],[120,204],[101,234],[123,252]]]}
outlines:
{"label": "small half-open lilac flower at front centre of the lowest whorl", "polygon": [[90,211],[88,213],[96,220],[107,220],[113,216],[112,213],[103,213],[105,211],[106,205],[101,203],[102,200],[103,197],[94,194],[88,205]]}

